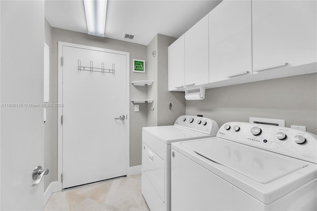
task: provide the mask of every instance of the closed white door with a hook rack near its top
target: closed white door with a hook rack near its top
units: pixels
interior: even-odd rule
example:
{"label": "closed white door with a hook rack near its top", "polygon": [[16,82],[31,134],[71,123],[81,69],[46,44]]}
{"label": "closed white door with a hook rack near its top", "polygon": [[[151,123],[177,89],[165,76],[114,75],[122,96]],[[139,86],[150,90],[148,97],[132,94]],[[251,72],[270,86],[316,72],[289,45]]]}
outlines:
{"label": "closed white door with a hook rack near its top", "polygon": [[[69,46],[62,53],[62,187],[126,175],[127,53]],[[78,59],[86,67],[114,64],[114,74],[78,70]]]}

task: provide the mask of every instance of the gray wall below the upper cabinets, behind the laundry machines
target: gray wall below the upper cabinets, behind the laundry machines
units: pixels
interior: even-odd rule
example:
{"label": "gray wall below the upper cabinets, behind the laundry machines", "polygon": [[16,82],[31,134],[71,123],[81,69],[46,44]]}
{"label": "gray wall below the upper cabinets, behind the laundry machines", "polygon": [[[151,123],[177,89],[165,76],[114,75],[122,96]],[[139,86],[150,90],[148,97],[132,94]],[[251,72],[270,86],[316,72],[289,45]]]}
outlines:
{"label": "gray wall below the upper cabinets, behind the laundry machines", "polygon": [[317,73],[206,90],[202,101],[186,101],[186,114],[203,114],[219,126],[249,117],[285,119],[317,134]]}

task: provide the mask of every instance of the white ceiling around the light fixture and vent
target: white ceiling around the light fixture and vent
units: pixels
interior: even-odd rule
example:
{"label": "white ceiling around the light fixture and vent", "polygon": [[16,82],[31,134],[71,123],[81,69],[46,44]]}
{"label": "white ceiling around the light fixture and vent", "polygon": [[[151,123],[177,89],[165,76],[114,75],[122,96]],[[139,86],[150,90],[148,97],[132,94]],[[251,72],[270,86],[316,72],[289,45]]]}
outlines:
{"label": "white ceiling around the light fixture and vent", "polygon": [[[108,0],[106,37],[148,45],[156,34],[179,38],[221,0]],[[83,0],[46,0],[52,27],[87,33]],[[123,34],[134,35],[133,40]]]}

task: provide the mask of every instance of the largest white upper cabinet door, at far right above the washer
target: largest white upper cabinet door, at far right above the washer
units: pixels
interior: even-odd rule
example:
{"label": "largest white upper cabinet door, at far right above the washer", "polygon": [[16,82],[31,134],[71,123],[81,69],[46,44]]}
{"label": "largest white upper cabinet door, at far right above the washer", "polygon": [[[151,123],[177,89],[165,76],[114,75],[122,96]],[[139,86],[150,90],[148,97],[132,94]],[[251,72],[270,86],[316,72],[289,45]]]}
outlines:
{"label": "largest white upper cabinet door, at far right above the washer", "polygon": [[252,0],[253,71],[316,62],[316,0]]}

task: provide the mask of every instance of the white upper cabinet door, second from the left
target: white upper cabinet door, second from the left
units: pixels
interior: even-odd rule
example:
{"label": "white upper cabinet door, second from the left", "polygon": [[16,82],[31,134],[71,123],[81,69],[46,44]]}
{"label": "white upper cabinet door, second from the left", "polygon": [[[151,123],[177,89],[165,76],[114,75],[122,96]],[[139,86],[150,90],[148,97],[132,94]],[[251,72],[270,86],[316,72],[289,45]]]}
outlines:
{"label": "white upper cabinet door, second from the left", "polygon": [[185,33],[185,86],[208,83],[208,15]]}

